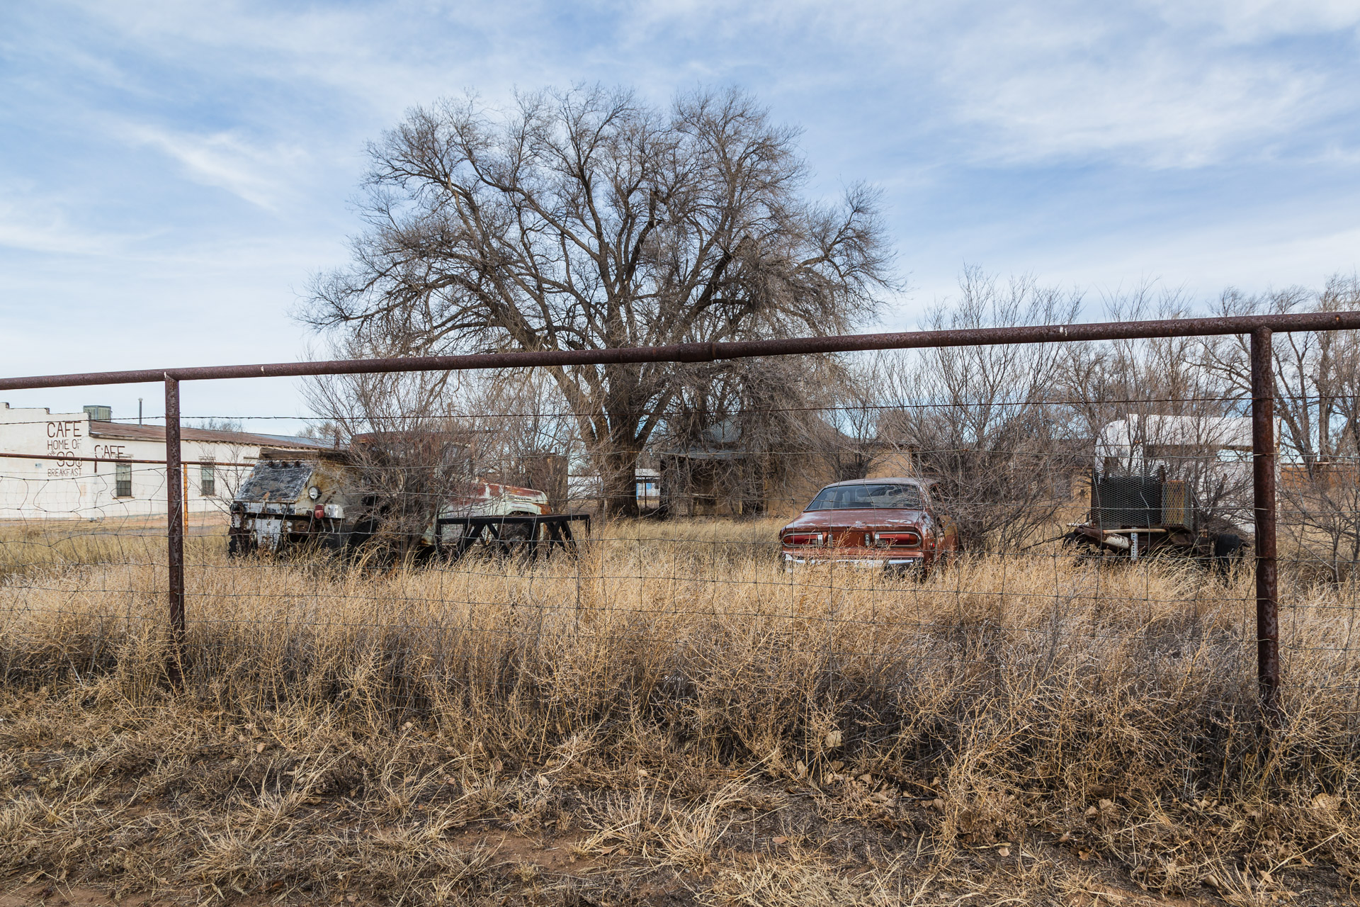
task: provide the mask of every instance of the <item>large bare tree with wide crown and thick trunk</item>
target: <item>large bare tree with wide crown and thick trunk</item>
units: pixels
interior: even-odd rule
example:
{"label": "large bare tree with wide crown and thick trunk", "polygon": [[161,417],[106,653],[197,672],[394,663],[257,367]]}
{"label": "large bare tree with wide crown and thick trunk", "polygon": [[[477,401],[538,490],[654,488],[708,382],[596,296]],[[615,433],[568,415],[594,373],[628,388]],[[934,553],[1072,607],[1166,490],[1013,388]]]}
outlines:
{"label": "large bare tree with wide crown and thick trunk", "polygon": [[[888,280],[879,196],[805,199],[796,139],[737,90],[668,109],[594,87],[412,110],[369,150],[352,264],[301,314],[412,355],[851,330]],[[551,374],[609,510],[634,513],[638,454],[684,369]]]}

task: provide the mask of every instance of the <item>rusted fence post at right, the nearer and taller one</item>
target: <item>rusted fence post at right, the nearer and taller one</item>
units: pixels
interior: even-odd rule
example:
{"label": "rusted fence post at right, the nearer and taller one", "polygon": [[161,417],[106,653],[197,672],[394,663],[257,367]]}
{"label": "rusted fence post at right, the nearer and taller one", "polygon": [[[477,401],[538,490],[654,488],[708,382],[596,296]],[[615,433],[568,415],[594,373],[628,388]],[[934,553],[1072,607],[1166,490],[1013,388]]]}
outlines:
{"label": "rusted fence post at right, the nearer and taller one", "polygon": [[1274,363],[1270,328],[1251,332],[1251,490],[1257,533],[1257,684],[1261,715],[1278,718],[1280,571],[1276,562]]}

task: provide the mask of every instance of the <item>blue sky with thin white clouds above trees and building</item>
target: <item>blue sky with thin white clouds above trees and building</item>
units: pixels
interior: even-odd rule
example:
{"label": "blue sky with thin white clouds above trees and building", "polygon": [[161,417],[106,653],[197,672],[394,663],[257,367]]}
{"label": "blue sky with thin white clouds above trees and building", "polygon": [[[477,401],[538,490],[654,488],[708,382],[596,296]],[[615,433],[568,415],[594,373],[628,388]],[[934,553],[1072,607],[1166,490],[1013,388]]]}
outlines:
{"label": "blue sky with thin white clouds above trees and building", "polygon": [[[1092,301],[1360,265],[1360,1],[63,3],[0,10],[0,371],[291,360],[364,141],[412,105],[743,86],[811,192],[883,186],[910,328],[964,264]],[[156,386],[12,392],[79,408]],[[296,416],[204,382],[192,416]],[[262,428],[265,423],[257,427]],[[286,424],[286,423],[284,423]]]}

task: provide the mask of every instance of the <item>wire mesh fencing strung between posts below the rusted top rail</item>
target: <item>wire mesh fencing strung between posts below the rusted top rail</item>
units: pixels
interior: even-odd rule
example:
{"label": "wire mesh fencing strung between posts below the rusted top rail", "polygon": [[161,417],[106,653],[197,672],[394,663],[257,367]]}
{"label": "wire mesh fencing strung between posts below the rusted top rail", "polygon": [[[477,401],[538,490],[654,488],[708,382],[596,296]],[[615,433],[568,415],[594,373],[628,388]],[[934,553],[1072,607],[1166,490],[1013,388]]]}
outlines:
{"label": "wire mesh fencing strung between posts below the rusted top rail", "polygon": [[1248,360],[1229,336],[670,363],[690,371],[622,415],[549,369],[412,363],[316,378],[305,435],[205,413],[169,446],[7,409],[7,670],[160,646],[184,683],[252,698],[343,696],[356,670],[397,713],[534,688],[555,728],[585,692],[545,679],[695,707],[737,662],[862,688],[874,721],[940,672],[1115,669],[1204,707],[1259,683],[1285,714],[1353,715],[1357,397],[1277,358],[1262,413]]}

